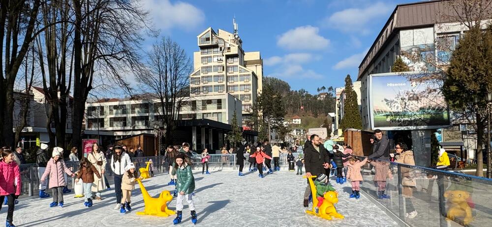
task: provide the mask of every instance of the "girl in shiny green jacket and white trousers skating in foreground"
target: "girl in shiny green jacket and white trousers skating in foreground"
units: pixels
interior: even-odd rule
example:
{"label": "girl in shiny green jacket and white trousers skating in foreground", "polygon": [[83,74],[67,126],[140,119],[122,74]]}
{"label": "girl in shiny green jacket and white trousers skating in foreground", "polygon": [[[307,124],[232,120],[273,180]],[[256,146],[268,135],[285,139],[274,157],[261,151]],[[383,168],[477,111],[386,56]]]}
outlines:
{"label": "girl in shiny green jacket and white trousers skating in foreground", "polygon": [[176,156],[176,191],[179,192],[176,200],[176,213],[177,216],[174,219],[174,225],[181,223],[183,219],[183,200],[186,198],[188,202],[188,208],[191,214],[191,222],[196,224],[197,217],[195,211],[195,204],[193,203],[193,191],[195,190],[195,178],[193,172],[191,172],[191,162],[185,158],[183,153]]}

